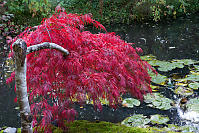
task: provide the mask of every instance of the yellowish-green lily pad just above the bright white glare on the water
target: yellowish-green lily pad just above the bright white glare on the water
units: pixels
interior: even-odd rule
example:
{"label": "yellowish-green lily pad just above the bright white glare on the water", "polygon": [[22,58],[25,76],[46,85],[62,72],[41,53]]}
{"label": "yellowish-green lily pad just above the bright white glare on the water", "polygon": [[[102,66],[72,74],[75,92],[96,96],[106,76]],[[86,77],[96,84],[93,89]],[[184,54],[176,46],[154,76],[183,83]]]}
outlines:
{"label": "yellowish-green lily pad just above the bright white glare on the water", "polygon": [[184,86],[178,86],[174,92],[182,96],[189,96],[193,94],[193,90],[191,88],[187,88]]}

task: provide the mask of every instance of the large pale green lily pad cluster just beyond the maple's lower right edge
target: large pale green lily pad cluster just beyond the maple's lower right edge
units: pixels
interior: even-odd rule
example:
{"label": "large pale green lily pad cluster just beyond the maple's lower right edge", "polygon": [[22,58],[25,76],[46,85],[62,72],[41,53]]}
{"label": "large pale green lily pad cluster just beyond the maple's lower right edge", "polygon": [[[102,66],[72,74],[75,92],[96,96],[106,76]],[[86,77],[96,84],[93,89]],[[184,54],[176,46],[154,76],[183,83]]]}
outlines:
{"label": "large pale green lily pad cluster just beyond the maple's lower right edge", "polygon": [[148,106],[158,108],[161,110],[168,110],[172,108],[173,101],[164,97],[160,93],[152,93],[144,96],[144,102],[149,103]]}

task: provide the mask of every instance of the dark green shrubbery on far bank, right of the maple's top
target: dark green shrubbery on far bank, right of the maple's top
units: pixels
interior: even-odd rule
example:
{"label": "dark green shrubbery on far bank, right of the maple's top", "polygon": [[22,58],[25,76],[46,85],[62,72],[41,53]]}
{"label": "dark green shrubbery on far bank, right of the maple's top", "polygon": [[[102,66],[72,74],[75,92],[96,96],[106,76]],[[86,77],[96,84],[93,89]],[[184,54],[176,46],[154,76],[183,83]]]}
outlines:
{"label": "dark green shrubbery on far bank, right of the maple's top", "polygon": [[99,0],[65,0],[60,3],[67,12],[92,13],[102,23],[159,21],[199,11],[199,0],[104,0],[100,14]]}

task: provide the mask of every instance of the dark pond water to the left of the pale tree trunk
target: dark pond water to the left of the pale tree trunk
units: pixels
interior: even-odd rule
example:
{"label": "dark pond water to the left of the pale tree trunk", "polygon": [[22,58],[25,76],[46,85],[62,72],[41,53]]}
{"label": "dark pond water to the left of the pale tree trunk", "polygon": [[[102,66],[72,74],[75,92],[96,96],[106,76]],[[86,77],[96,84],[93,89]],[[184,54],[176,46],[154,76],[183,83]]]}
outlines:
{"label": "dark pond water to the left of the pale tree trunk", "polygon": [[0,40],[0,127],[11,126],[19,127],[17,106],[14,103],[16,97],[14,92],[14,83],[6,84],[6,75],[10,74],[8,66],[6,66],[6,58],[8,55],[8,46],[4,40]]}

